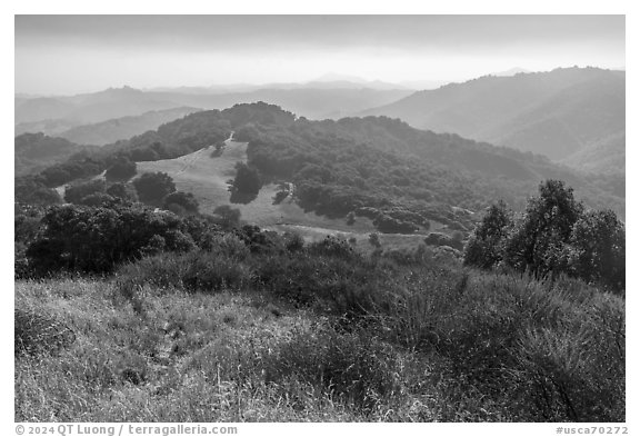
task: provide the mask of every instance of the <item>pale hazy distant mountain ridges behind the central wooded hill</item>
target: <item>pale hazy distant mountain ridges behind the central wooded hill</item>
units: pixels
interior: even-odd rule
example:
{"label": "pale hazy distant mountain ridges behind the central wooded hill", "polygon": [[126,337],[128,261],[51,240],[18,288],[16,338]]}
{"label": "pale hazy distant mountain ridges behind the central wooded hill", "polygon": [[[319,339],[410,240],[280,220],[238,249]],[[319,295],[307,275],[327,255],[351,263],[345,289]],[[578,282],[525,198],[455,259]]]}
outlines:
{"label": "pale hazy distant mountain ridges behind the central wooded hill", "polygon": [[[67,97],[16,97],[14,115],[17,126],[30,123],[31,128],[37,128],[44,123],[64,123],[76,127],[180,107],[224,109],[236,103],[269,101],[290,108],[301,117],[321,119],[387,105],[411,92],[410,89],[390,89],[383,83],[358,85],[347,81],[319,81],[291,88],[258,88],[242,91],[200,88],[142,91],[123,87]],[[17,130],[24,131],[22,127]]]}

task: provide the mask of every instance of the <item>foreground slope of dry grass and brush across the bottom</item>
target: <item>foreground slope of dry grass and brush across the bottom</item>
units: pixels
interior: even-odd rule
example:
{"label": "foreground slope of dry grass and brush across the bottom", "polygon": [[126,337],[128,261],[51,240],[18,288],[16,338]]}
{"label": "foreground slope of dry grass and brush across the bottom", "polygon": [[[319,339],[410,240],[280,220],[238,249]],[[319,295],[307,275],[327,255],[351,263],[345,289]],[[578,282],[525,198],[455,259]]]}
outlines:
{"label": "foreground slope of dry grass and brush across the bottom", "polygon": [[426,248],[218,238],[17,281],[16,420],[624,420],[621,297]]}

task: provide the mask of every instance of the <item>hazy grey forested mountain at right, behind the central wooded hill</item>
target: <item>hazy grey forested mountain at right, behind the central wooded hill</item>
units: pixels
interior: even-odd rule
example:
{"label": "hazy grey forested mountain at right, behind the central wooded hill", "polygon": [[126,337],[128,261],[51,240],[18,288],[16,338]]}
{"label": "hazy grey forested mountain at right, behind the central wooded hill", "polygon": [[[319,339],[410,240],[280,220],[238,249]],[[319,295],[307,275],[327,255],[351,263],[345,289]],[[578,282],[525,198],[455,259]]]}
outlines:
{"label": "hazy grey forested mountain at right, behind the central wooded hill", "polygon": [[400,118],[416,128],[559,160],[624,132],[624,83],[623,71],[597,68],[487,76],[419,91],[361,115]]}

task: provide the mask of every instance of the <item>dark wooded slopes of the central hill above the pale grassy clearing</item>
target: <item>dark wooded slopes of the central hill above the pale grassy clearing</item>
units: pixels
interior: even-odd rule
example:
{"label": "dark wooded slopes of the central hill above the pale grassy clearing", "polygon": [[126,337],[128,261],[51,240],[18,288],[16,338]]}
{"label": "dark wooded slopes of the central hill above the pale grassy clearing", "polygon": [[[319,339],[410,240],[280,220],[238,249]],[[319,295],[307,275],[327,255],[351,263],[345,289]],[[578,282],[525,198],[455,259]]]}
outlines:
{"label": "dark wooded slopes of the central hill above the pale grassy clearing", "polygon": [[[522,207],[549,178],[573,186],[590,206],[624,212],[623,198],[540,156],[418,130],[386,117],[297,119],[262,102],[189,115],[99,153],[74,157],[72,167],[89,162],[97,173],[121,158],[176,158],[220,143],[232,131],[249,142],[249,166],[263,181],[293,182],[299,203],[324,215],[367,215],[367,208],[374,208],[413,222],[420,221],[413,213],[452,219],[451,207],[477,211],[500,198]],[[82,177],[68,170],[68,165],[46,170],[44,185]]]}

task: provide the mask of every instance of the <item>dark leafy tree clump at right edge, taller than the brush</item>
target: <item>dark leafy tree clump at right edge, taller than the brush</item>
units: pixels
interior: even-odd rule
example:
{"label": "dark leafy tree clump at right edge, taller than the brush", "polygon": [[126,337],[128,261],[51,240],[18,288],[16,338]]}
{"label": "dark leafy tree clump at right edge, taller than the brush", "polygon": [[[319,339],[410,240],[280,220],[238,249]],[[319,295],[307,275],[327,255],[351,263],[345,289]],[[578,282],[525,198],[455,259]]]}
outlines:
{"label": "dark leafy tree clump at right edge, taller than the brush", "polygon": [[557,180],[540,185],[521,218],[504,203],[489,209],[464,250],[464,264],[503,264],[537,277],[561,274],[623,291],[624,225],[611,210],[588,210]]}

